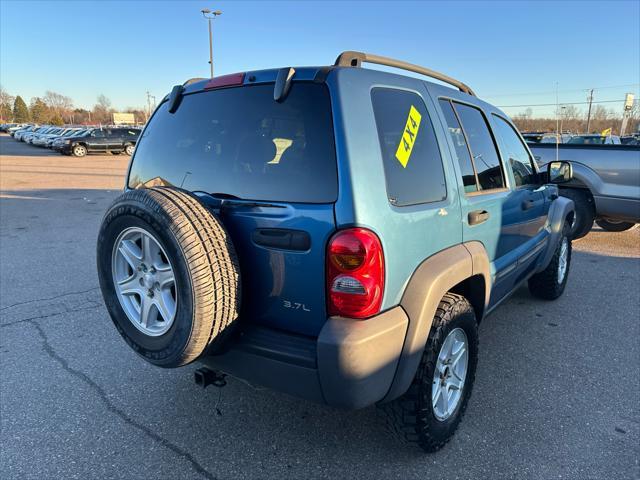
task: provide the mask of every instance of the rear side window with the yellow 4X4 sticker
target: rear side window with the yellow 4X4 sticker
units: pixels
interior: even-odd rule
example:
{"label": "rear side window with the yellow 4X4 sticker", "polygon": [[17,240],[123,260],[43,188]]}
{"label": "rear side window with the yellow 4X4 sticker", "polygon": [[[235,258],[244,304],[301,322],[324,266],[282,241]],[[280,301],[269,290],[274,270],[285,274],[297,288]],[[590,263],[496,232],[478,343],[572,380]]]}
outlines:
{"label": "rear side window with the yellow 4X4 sticker", "polygon": [[389,202],[404,206],[444,200],[442,158],[422,98],[403,90],[374,88],[371,101]]}

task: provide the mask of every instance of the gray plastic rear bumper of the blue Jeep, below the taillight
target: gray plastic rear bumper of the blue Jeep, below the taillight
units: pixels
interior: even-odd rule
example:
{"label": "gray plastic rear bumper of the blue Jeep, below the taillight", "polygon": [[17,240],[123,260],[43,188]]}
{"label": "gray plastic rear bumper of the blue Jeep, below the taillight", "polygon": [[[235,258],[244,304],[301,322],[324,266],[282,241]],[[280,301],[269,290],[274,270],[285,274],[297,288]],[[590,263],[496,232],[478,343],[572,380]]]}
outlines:
{"label": "gray plastic rear bumper of the blue Jeep, below the taillight", "polygon": [[389,391],[407,326],[407,314],[395,307],[368,320],[329,318],[317,339],[255,327],[200,361],[315,402],[362,408]]}

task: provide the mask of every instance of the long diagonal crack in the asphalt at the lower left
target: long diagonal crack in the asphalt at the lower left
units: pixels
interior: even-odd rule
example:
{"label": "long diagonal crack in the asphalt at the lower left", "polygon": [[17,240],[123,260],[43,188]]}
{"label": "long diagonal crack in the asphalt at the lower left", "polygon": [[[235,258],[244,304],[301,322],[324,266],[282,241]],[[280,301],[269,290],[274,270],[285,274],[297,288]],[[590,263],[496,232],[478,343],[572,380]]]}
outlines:
{"label": "long diagonal crack in the asphalt at the lower left", "polygon": [[182,448],[170,442],[166,438],[161,437],[160,435],[153,432],[151,429],[142,425],[141,423],[136,422],[133,418],[127,415],[126,412],[124,412],[123,410],[118,408],[116,405],[114,405],[114,403],[109,399],[107,392],[105,392],[100,385],[98,385],[86,373],[80,370],[76,370],[75,368],[70,366],[69,362],[55,351],[55,349],[51,346],[51,343],[49,342],[49,338],[47,337],[47,334],[45,333],[44,329],[38,322],[36,322],[35,320],[28,320],[28,322],[34,326],[34,328],[38,331],[38,334],[42,338],[42,347],[45,353],[49,355],[49,357],[51,357],[53,360],[58,362],[60,366],[67,373],[76,377],[77,379],[81,380],[86,385],[91,387],[91,389],[93,389],[93,391],[98,395],[98,397],[100,397],[100,400],[102,400],[102,402],[104,403],[105,407],[109,412],[120,417],[120,419],[122,419],[122,421],[125,422],[127,425],[138,429],[140,432],[142,432],[149,438],[155,440],[156,442],[160,443],[162,446],[168,448],[176,455],[184,458],[204,478],[208,480],[216,480],[216,477],[213,474],[211,474],[207,469],[205,469],[202,465],[200,465],[200,463],[198,463],[198,461],[189,452],[187,452],[186,450],[183,450]]}

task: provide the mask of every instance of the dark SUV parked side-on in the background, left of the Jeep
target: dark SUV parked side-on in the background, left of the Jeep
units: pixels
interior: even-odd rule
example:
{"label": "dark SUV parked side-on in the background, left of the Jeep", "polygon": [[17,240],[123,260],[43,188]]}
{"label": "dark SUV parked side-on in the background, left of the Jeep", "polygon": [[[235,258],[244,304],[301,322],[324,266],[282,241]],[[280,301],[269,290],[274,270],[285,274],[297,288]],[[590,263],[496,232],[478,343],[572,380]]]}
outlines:
{"label": "dark SUV parked side-on in the background, left of the Jeep", "polygon": [[87,153],[122,153],[131,155],[140,130],[137,128],[95,128],[82,136],[65,140],[57,149],[65,155],[84,157]]}

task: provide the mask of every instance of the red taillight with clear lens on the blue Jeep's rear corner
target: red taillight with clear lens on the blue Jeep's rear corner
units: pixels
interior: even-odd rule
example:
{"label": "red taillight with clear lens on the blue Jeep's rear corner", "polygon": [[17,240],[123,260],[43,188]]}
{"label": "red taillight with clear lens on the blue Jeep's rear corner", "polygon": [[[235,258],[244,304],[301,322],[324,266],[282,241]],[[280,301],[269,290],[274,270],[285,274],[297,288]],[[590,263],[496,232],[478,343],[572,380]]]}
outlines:
{"label": "red taillight with clear lens on the blue Jeep's rear corner", "polygon": [[327,247],[329,315],[367,318],[380,311],[384,293],[384,253],[366,228],[336,233]]}

